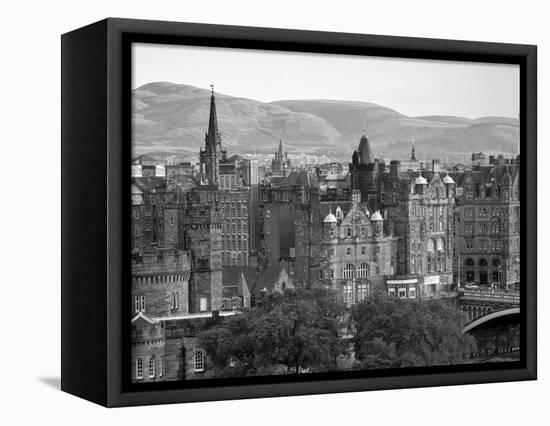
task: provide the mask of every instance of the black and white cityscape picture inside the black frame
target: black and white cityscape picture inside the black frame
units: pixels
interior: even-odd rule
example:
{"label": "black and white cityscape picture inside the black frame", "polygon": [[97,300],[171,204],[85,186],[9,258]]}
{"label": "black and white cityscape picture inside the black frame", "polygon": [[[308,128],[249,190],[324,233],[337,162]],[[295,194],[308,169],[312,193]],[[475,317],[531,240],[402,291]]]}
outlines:
{"label": "black and white cityscape picture inside the black frame", "polygon": [[134,384],[518,361],[520,67],[133,43]]}

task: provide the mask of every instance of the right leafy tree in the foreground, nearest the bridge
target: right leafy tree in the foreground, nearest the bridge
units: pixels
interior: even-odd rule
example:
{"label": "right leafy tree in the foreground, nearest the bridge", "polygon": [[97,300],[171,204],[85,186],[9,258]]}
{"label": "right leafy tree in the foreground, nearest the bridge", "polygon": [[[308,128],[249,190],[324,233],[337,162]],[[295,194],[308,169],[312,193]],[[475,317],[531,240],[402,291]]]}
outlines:
{"label": "right leafy tree in the foreground, nearest the bridge", "polygon": [[351,321],[360,368],[460,364],[476,348],[475,339],[462,334],[460,312],[439,301],[377,293],[352,308]]}

